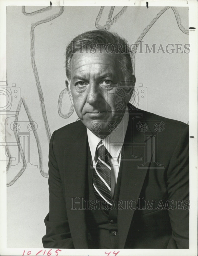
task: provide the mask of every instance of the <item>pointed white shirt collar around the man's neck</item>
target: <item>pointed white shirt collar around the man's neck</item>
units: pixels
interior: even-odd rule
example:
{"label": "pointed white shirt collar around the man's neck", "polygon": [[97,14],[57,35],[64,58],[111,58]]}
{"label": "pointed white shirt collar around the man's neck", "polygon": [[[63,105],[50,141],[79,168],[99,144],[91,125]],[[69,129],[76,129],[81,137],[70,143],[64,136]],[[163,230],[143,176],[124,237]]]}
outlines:
{"label": "pointed white shirt collar around the man's neck", "polygon": [[[127,131],[127,126],[129,122],[129,111],[128,107],[125,110],[125,114],[123,115],[122,120],[120,121],[116,130],[112,131],[109,135],[107,135],[103,139],[103,144],[106,149],[109,151],[110,155],[113,159],[117,160],[122,149],[122,145],[124,142],[125,134]],[[95,152],[98,143],[100,142],[101,138],[96,136],[87,128],[87,135],[88,135],[88,142],[91,151],[92,161],[94,162],[95,159]],[[95,159],[95,162],[97,159]]]}

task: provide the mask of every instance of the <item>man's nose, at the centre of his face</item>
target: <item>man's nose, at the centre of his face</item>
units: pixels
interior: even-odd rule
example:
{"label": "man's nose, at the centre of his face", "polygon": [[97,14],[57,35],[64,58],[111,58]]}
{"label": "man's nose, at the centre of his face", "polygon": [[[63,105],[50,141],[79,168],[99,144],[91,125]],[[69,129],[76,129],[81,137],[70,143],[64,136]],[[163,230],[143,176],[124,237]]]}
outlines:
{"label": "man's nose, at the centre of his face", "polygon": [[102,101],[102,94],[97,83],[91,82],[89,84],[86,101],[93,106]]}

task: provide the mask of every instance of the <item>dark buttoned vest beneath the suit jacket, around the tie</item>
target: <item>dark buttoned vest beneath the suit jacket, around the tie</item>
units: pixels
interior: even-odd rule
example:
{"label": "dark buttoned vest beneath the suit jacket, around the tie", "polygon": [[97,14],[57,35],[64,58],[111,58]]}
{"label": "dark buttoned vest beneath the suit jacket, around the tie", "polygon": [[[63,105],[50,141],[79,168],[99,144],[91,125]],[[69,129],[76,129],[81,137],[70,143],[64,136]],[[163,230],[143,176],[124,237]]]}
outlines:
{"label": "dark buttoned vest beneath the suit jacket, around the tie", "polygon": [[[121,162],[122,163],[122,162]],[[114,200],[119,198],[121,182],[121,163],[116,184]],[[115,207],[109,212],[100,209],[100,203],[95,204],[96,197],[93,192],[92,171],[93,162],[90,148],[88,149],[88,179],[89,179],[89,209],[87,211],[87,223],[90,234],[88,239],[97,249],[117,249],[118,248],[118,227],[117,227],[117,210]],[[91,203],[93,202],[93,203]],[[91,206],[91,207],[90,207]]]}

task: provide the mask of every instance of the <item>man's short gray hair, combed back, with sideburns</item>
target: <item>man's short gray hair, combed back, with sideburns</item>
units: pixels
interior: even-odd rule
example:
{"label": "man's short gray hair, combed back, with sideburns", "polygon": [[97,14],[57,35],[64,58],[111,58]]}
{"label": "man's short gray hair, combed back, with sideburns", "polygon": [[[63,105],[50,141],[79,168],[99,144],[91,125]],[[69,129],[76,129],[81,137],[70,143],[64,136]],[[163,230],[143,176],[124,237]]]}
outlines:
{"label": "man's short gray hair, combed back, with sideburns", "polygon": [[[112,47],[112,52],[119,54],[120,68],[125,80],[130,81],[133,73],[129,45],[126,39],[121,38],[117,33],[105,30],[91,30],[76,36],[66,48],[66,75],[71,79],[71,58],[76,48],[82,52],[82,49],[90,48],[90,45],[99,45]],[[106,48],[105,48],[106,49]],[[108,53],[112,53],[108,52]]]}

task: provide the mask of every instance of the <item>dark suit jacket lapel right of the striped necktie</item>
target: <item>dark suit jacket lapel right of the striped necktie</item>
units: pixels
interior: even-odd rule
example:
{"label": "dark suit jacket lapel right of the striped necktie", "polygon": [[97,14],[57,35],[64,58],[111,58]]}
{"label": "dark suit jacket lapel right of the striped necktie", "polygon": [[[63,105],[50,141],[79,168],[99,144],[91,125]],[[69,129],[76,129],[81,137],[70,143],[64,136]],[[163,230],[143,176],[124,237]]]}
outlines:
{"label": "dark suit jacket lapel right of the striped necktie", "polygon": [[[118,235],[119,247],[124,248],[128,231],[131,225],[134,208],[140,195],[144,179],[149,167],[149,162],[145,161],[145,137],[144,132],[137,130],[137,123],[143,120],[141,112],[129,112],[129,124],[123,144],[123,158],[122,158],[122,174],[120,183],[119,200],[133,201],[129,210],[118,211]],[[135,146],[131,146],[132,145]],[[144,168],[139,165],[144,164]],[[136,200],[136,201],[135,201]],[[125,204],[124,204],[125,205]],[[131,209],[130,209],[131,208]],[[132,209],[133,208],[133,209]]]}

